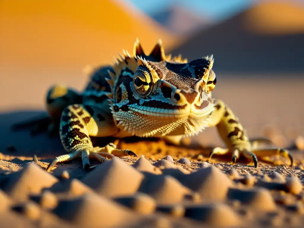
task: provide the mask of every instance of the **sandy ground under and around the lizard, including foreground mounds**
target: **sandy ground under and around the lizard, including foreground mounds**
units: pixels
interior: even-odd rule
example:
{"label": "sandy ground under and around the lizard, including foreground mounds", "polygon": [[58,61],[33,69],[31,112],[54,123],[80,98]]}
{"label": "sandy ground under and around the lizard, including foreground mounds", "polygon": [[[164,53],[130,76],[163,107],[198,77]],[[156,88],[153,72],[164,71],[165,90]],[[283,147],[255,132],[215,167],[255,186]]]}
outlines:
{"label": "sandy ground under and around the lizard, including foreground mounds", "polygon": [[[64,154],[59,137],[10,129],[16,121],[43,113],[40,91],[30,101],[37,110],[23,109],[19,95],[11,96],[11,107],[17,108],[2,106],[0,114],[0,219],[5,227],[300,227],[304,113],[303,81],[296,80],[227,76],[214,92],[237,114],[250,138],[267,136],[274,146],[288,148],[292,168],[278,156],[259,159],[258,168],[246,159],[232,166],[229,157],[214,156],[209,163],[209,151],[223,146],[212,128],[187,147],[155,139],[114,141],[138,158],[92,160],[96,166],[89,172],[76,159],[47,173],[52,158]],[[94,138],[93,143],[112,140]]]}

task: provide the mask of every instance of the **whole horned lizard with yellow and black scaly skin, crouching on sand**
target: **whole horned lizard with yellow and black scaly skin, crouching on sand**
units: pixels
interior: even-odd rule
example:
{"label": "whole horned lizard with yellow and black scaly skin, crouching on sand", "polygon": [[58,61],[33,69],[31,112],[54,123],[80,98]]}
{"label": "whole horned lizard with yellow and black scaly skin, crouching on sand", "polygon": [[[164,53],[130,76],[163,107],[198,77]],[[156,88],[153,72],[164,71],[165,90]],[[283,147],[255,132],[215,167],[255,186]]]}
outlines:
{"label": "whole horned lizard with yellow and black scaly skin, crouching on sand", "polygon": [[[232,163],[243,155],[257,167],[257,157],[281,154],[287,150],[256,149],[238,118],[219,99],[212,98],[216,85],[213,57],[188,62],[181,56],[165,56],[161,40],[146,55],[136,40],[133,56],[123,51],[112,66],[91,72],[85,91],[54,86],[47,95],[47,110],[52,126],[59,126],[68,154],[56,157],[47,167],[81,157],[83,168],[89,158],[104,162],[114,156],[136,156],[130,150],[116,149],[113,143],[93,147],[90,136],[160,137],[179,144],[206,127],[216,126],[227,148],[214,148],[213,154],[231,154]],[[58,120],[58,116],[60,116]],[[54,129],[54,127],[53,127]]]}

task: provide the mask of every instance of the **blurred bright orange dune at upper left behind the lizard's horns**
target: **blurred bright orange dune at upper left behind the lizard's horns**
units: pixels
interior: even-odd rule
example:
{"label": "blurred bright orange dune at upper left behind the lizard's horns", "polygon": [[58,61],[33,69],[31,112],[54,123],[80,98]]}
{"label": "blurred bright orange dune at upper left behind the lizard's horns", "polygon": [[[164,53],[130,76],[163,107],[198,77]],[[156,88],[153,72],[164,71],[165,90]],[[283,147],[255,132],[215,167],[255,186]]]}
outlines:
{"label": "blurred bright orange dune at upper left behind the lizard's horns", "polygon": [[123,1],[1,1],[1,64],[36,70],[62,70],[112,63],[117,51],[132,51],[138,38],[150,50],[161,37],[174,43],[161,26]]}

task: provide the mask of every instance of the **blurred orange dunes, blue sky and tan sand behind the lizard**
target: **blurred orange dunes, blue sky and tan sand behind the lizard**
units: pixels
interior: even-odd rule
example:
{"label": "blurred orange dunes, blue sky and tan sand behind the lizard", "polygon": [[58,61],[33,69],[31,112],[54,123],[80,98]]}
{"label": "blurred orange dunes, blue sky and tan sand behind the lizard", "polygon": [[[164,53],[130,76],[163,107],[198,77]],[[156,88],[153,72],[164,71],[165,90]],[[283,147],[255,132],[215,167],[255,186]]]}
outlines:
{"label": "blurred orange dunes, blue sky and tan sand behind the lizard", "polygon": [[[304,135],[301,0],[1,0],[1,135],[44,110],[51,85],[83,89],[87,65],[132,52],[136,37],[147,53],[161,38],[166,54],[188,60],[213,54],[213,96],[230,106],[249,136],[287,145]],[[222,144],[215,128],[197,139]]]}

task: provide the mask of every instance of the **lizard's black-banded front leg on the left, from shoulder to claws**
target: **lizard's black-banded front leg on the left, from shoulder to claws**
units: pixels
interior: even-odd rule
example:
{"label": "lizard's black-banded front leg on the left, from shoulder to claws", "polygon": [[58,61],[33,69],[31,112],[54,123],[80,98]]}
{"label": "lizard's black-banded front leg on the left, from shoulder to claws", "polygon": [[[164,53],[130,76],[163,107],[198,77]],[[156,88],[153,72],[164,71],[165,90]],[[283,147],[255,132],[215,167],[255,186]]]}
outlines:
{"label": "lizard's black-banded front leg on the left, from shoulder to claws", "polygon": [[111,113],[102,108],[93,105],[69,105],[62,112],[59,130],[61,142],[68,154],[56,157],[46,170],[50,171],[58,162],[70,161],[76,157],[82,158],[84,169],[90,167],[89,157],[100,162],[113,155],[137,157],[130,150],[116,149],[113,143],[105,147],[93,147],[90,136],[112,136],[118,131]]}

